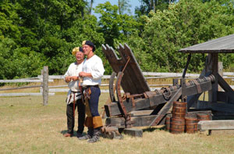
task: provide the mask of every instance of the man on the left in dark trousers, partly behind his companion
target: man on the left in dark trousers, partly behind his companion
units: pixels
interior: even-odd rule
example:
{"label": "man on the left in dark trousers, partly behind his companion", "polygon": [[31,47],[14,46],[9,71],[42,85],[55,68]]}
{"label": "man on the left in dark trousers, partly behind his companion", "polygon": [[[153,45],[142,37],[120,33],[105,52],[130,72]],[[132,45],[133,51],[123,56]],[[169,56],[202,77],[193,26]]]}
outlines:
{"label": "man on the left in dark trousers, partly behind his companion", "polygon": [[82,102],[82,91],[79,85],[79,73],[82,71],[84,53],[81,47],[75,47],[72,50],[72,54],[76,57],[76,62],[71,63],[67,72],[64,75],[65,81],[68,83],[69,92],[67,94],[67,133],[65,137],[73,136],[73,129],[75,124],[75,109],[77,107],[78,112],[78,130],[77,137],[81,137],[84,131],[85,121],[85,105]]}

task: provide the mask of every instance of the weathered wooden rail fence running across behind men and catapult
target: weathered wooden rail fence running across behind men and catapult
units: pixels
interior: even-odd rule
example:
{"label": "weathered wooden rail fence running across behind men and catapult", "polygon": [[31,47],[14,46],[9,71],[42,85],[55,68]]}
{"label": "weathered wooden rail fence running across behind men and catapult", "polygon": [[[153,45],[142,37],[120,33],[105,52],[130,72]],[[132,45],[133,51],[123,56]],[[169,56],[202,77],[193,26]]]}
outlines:
{"label": "weathered wooden rail fence running across behind men and catapult", "polygon": [[[1,91],[8,90],[18,90],[18,89],[26,89],[26,88],[40,88],[39,93],[0,93],[0,96],[43,96],[43,105],[48,104],[48,96],[54,95],[56,92],[68,92],[67,84],[64,85],[56,85],[49,86],[49,82],[52,83],[54,80],[63,80],[63,75],[48,75],[48,66],[44,66],[41,70],[41,75],[33,78],[27,79],[14,79],[14,80],[0,80],[0,83],[41,83],[40,85],[35,86],[21,86],[16,88],[0,88]],[[145,79],[147,81],[153,79],[166,79],[166,78],[180,78],[182,73],[157,73],[157,72],[143,72]],[[186,78],[195,79],[198,78],[199,74],[191,74],[187,73]],[[109,80],[110,75],[104,75],[104,80]],[[234,81],[234,72],[223,72],[224,79],[231,79]],[[65,83],[65,82],[64,82]],[[149,84],[151,90],[160,89],[161,87],[168,87],[172,84]],[[108,87],[109,84],[101,84],[101,87]],[[231,88],[234,89],[234,86],[231,85]],[[101,88],[102,92],[109,92],[108,88]]]}

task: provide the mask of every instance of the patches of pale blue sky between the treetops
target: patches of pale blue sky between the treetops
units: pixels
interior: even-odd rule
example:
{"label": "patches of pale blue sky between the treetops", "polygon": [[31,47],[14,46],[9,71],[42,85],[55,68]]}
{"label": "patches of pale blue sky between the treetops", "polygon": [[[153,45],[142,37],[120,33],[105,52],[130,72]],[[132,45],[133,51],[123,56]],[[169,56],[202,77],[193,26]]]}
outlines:
{"label": "patches of pale blue sky between the treetops", "polygon": [[[112,5],[118,5],[118,0],[94,0],[93,8],[95,8],[100,3],[103,4],[107,1],[109,1]],[[139,2],[139,0],[129,0],[129,4],[131,5],[131,13],[132,13],[132,15],[134,15],[135,7],[136,6],[139,7],[141,3]],[[94,12],[92,12],[92,13],[94,13]]]}

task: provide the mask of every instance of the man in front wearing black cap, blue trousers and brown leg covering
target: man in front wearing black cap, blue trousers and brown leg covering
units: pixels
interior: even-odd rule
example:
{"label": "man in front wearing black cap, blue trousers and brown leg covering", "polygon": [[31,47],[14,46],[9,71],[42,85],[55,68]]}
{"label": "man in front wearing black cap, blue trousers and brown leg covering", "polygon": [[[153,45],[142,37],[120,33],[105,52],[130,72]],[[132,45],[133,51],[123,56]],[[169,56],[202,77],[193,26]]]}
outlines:
{"label": "man in front wearing black cap, blue trousers and brown leg covering", "polygon": [[91,117],[87,116],[85,120],[88,134],[79,139],[89,139],[89,143],[94,143],[99,140],[100,129],[103,126],[102,118],[98,112],[98,102],[101,94],[99,85],[105,70],[101,58],[94,54],[94,44],[91,41],[83,41],[82,47],[87,58],[83,63],[82,72],[79,73],[79,76],[83,78],[82,87],[85,89],[85,96],[89,95],[88,105]]}

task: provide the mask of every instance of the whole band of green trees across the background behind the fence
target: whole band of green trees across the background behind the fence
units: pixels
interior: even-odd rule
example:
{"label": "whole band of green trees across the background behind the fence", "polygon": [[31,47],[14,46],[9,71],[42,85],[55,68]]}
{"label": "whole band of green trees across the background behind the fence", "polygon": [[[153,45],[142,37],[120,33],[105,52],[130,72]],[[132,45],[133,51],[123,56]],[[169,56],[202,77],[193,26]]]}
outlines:
{"label": "whole band of green trees across the background behind the fence", "polygon": [[[64,74],[83,40],[111,67],[102,44],[116,49],[127,43],[143,71],[181,71],[187,55],[179,49],[234,33],[233,0],[141,0],[135,16],[129,1],[99,4],[93,0],[2,0],[0,3],[0,79],[37,76],[44,65]],[[203,67],[205,55],[192,56],[190,71]],[[233,54],[220,54],[224,68],[234,67]]]}

